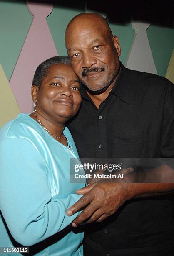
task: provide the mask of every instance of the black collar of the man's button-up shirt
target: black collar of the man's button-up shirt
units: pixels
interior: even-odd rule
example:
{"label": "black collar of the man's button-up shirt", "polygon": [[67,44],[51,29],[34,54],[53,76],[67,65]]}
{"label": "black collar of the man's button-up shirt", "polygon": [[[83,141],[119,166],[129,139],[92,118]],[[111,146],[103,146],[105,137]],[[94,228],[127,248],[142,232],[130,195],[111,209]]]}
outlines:
{"label": "black collar of the man's button-up shirt", "polygon": [[[112,92],[114,95],[120,98],[120,100],[124,101],[125,103],[129,104],[129,79],[128,79],[128,72],[124,65],[120,62],[120,75],[117,81],[112,88]],[[80,93],[82,98],[85,100],[91,100],[89,95],[87,94],[85,87],[82,85],[80,87]]]}

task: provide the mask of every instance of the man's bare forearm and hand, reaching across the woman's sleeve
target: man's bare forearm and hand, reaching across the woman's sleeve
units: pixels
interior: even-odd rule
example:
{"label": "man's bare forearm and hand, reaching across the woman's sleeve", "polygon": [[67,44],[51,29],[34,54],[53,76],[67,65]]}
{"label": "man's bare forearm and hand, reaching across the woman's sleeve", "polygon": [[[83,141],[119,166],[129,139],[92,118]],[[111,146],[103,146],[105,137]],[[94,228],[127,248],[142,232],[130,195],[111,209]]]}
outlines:
{"label": "man's bare forearm and hand, reaching across the woman's sleeve", "polygon": [[86,207],[73,221],[72,226],[75,227],[85,220],[86,223],[100,222],[114,214],[126,200],[159,196],[174,191],[174,183],[171,182],[174,182],[174,170],[167,165],[140,173],[127,173],[124,181],[107,179],[95,182],[77,191],[78,194],[85,195],[67,210],[67,215],[73,215]]}

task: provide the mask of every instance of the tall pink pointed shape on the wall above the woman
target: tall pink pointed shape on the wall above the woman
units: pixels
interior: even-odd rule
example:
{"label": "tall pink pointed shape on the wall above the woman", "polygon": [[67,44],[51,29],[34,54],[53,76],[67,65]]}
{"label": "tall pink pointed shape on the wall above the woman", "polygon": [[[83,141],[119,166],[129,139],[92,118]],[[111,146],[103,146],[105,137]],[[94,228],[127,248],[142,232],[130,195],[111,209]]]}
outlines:
{"label": "tall pink pointed shape on the wall above the woman", "polygon": [[52,4],[27,2],[27,9],[33,16],[33,20],[10,78],[10,86],[17,103],[20,110],[25,113],[33,110],[29,95],[32,77],[37,66],[45,59],[57,55],[46,21],[46,17],[52,13],[52,8]]}

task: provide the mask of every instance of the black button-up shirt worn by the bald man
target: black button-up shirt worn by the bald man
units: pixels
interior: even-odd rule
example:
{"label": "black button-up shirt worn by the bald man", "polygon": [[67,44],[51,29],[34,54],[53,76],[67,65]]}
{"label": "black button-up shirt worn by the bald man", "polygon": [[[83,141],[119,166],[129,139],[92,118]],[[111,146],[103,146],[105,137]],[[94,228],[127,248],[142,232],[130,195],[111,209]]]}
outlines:
{"label": "black button-up shirt worn by the bald man", "polygon": [[[122,65],[99,109],[84,87],[81,94],[80,111],[68,125],[81,158],[174,157],[174,85],[167,79]],[[167,253],[172,216],[168,197],[129,200],[102,223],[88,225],[86,242],[100,255]]]}

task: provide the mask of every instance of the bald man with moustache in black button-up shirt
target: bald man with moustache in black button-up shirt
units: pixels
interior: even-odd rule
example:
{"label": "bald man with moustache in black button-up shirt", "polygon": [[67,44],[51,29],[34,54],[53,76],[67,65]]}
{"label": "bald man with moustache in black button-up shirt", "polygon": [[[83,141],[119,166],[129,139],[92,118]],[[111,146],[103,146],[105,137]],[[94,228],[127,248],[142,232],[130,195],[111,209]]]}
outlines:
{"label": "bald man with moustache in black button-up shirt", "polygon": [[[80,157],[174,157],[173,84],[125,69],[119,40],[100,15],[73,18],[65,44],[84,85],[80,112],[69,125]],[[72,226],[97,222],[87,225],[85,255],[173,255],[173,203],[164,195],[173,190],[165,183],[98,182],[78,191],[85,195],[67,214],[85,210]]]}

